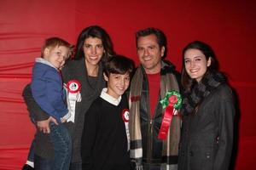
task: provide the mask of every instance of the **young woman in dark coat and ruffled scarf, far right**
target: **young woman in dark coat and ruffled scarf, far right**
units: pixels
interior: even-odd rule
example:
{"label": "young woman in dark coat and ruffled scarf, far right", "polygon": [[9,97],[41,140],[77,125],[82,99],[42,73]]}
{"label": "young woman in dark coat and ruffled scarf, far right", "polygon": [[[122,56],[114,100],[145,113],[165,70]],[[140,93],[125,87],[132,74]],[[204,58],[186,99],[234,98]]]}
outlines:
{"label": "young woman in dark coat and ruffled scarf, far right", "polygon": [[183,124],[178,169],[227,170],[233,144],[232,91],[212,48],[195,41],[183,49]]}

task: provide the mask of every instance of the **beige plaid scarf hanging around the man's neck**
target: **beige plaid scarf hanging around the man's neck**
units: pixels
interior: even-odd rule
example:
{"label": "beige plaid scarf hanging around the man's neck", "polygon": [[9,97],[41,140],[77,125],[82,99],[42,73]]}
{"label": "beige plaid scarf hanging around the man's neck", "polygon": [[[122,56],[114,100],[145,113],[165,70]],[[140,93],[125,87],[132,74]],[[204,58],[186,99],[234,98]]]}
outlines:
{"label": "beige plaid scarf hanging around the man's neck", "polygon": [[[172,65],[171,65],[172,66]],[[178,89],[176,77],[172,74],[172,67],[162,62],[160,78],[160,97],[163,99],[169,90]],[[131,81],[129,98],[130,120],[129,129],[131,137],[131,160],[136,162],[136,169],[143,169],[143,144],[140,126],[140,96],[143,88],[143,77],[146,77],[143,66],[140,65]],[[162,114],[165,110],[162,110]],[[180,139],[181,119],[172,117],[172,125],[168,131],[166,140],[163,141],[161,169],[177,169],[178,143]]]}

